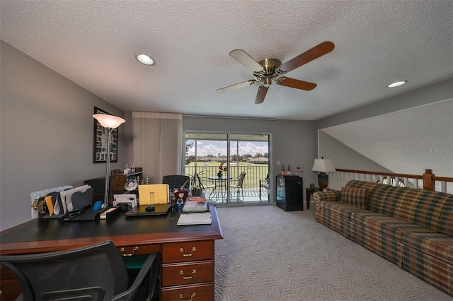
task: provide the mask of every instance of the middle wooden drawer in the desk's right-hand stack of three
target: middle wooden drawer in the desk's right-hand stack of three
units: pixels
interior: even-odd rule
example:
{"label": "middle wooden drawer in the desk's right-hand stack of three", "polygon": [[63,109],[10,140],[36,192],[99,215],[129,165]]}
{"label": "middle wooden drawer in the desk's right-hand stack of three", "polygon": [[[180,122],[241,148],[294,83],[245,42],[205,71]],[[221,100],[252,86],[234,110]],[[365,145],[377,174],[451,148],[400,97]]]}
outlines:
{"label": "middle wooden drawer in the desk's right-hand stack of three", "polygon": [[212,282],[212,261],[162,266],[162,286]]}

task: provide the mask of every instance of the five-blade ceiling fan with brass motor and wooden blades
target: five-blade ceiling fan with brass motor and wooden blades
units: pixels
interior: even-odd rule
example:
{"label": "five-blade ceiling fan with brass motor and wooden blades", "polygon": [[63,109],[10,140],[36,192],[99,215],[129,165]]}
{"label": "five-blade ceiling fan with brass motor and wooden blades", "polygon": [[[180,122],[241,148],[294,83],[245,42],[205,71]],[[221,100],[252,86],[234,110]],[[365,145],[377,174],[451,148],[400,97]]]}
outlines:
{"label": "five-blade ceiling fan with brass motor and wooden blades", "polygon": [[313,90],[316,87],[316,83],[309,83],[308,81],[300,81],[298,79],[289,78],[284,76],[287,72],[292,71],[309,61],[313,61],[328,52],[331,52],[335,45],[333,42],[326,41],[319,45],[307,50],[306,52],[299,54],[294,59],[290,59],[286,63],[282,64],[280,59],[263,59],[262,61],[256,61],[249,56],[242,49],[235,49],[229,53],[233,59],[239,61],[248,70],[253,72],[253,77],[249,81],[243,81],[242,83],[236,83],[229,85],[225,88],[217,89],[217,93],[224,93],[237,88],[246,87],[247,85],[254,85],[256,83],[262,83],[258,88],[258,94],[256,95],[256,104],[260,104],[264,101],[266,93],[268,93],[269,86],[272,81],[275,81],[277,85],[285,85],[289,88],[296,88],[301,90]]}

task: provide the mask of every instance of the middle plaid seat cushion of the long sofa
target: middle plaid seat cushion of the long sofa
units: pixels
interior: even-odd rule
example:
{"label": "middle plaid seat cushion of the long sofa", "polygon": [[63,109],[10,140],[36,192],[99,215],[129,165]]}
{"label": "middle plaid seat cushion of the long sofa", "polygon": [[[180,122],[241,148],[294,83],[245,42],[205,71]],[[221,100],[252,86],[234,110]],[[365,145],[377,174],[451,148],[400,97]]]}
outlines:
{"label": "middle plaid seat cushion of the long sofa", "polygon": [[413,223],[408,223],[405,220],[399,220],[398,218],[372,211],[352,212],[351,221],[352,223],[356,223],[357,225],[368,228],[369,230],[379,232],[386,237],[396,240],[397,242],[401,242],[403,240],[403,234],[405,232],[435,232],[428,227],[415,225]]}

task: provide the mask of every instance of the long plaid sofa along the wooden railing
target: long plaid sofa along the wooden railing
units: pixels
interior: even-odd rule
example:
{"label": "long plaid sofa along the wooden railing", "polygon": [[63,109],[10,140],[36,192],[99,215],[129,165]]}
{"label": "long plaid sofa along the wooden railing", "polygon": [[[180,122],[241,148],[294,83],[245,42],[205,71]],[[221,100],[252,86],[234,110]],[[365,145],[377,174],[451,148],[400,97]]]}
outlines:
{"label": "long plaid sofa along the wooden railing", "polygon": [[352,180],[314,194],[316,221],[453,297],[453,195]]}

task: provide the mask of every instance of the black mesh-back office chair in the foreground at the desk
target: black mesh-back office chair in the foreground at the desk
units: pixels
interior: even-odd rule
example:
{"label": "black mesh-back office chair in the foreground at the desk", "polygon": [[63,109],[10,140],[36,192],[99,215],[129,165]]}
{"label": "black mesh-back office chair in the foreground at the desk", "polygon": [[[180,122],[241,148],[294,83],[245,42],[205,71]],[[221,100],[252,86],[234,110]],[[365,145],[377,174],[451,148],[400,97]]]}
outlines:
{"label": "black mesh-back office chair in the foreground at the desk", "polygon": [[25,301],[151,300],[160,262],[160,253],[150,254],[128,288],[127,268],[110,240],[67,251],[0,256],[1,266],[18,278]]}

